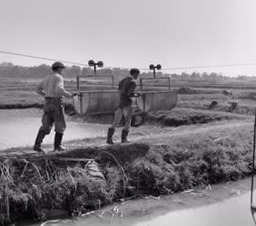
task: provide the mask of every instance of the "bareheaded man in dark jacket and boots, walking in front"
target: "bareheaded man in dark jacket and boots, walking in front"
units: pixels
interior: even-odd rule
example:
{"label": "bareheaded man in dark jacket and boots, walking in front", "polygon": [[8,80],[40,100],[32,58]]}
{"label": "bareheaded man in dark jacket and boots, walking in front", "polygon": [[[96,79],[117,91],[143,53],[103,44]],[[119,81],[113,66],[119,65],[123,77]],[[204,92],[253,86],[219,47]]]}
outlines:
{"label": "bareheaded man in dark jacket and boots, walking in front", "polygon": [[107,141],[109,145],[113,145],[113,134],[115,127],[119,124],[122,116],[124,116],[125,125],[122,130],[122,143],[127,143],[127,136],[129,133],[131,120],[133,117],[132,98],[136,88],[135,80],[138,79],[140,71],[138,69],[131,69],[130,76],[127,76],[119,82],[118,90],[121,91],[119,107],[114,112],[113,124],[108,129]]}

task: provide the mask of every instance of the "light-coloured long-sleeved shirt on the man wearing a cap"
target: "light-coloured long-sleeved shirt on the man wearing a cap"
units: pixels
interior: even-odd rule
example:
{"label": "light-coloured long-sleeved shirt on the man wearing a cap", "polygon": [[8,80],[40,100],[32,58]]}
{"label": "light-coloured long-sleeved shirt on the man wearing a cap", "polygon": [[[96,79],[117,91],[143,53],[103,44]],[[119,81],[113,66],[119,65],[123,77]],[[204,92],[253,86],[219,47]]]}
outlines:
{"label": "light-coloured long-sleeved shirt on the man wearing a cap", "polygon": [[71,98],[72,94],[64,89],[64,78],[58,74],[50,74],[35,88],[44,98]]}

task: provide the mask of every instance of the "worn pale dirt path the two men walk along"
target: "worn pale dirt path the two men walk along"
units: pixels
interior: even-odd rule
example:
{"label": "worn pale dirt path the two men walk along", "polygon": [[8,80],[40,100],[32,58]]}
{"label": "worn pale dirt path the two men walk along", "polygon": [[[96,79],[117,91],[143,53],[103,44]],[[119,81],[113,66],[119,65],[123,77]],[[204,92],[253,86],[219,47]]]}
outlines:
{"label": "worn pale dirt path the two men walk along", "polygon": [[[211,137],[219,138],[225,137],[233,130],[237,129],[253,129],[253,124],[250,121],[220,121],[212,122],[202,125],[190,125],[182,127],[138,127],[131,129],[131,135],[129,139],[135,143],[149,143],[153,145],[168,144],[172,137],[189,137],[198,134],[198,136],[211,133]],[[116,144],[120,144],[120,133],[122,128],[118,128],[114,140]],[[96,137],[82,140],[71,140],[64,143],[67,149],[88,147],[88,146],[108,146],[105,144],[105,137]],[[52,150],[52,145],[44,146],[44,149],[48,151]],[[34,153],[31,147],[17,147],[3,150],[0,155],[11,154],[24,154]]]}

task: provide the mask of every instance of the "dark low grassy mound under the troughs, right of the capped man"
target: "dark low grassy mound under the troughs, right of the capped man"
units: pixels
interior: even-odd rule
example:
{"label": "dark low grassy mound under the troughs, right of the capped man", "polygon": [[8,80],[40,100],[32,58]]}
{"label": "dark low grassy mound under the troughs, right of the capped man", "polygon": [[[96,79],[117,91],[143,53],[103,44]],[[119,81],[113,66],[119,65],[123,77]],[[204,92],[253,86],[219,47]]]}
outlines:
{"label": "dark low grassy mound under the troughs, right of the capped man", "polygon": [[[111,124],[113,121],[113,114],[102,114],[95,116],[84,116],[81,118],[90,123]],[[216,121],[224,120],[248,120],[250,116],[234,114],[230,112],[211,111],[191,108],[173,108],[172,110],[159,110],[155,112],[133,114],[132,127],[146,126],[164,126],[164,127],[180,127],[183,125],[206,124]],[[124,118],[120,122],[120,127],[124,125]]]}

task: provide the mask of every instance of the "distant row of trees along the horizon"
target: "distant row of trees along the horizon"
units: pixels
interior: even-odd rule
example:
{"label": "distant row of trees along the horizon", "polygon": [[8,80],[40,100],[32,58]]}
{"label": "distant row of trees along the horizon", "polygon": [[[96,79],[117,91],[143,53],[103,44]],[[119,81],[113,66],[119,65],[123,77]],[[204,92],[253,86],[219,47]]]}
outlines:
{"label": "distant row of trees along the horizon", "polygon": [[[34,67],[24,67],[13,64],[12,62],[2,62],[0,63],[0,78],[27,78],[27,79],[41,79],[44,76],[51,73],[51,66],[42,64]],[[74,78],[77,75],[93,75],[94,70],[91,68],[81,68],[79,66],[67,67],[64,71],[65,77]],[[126,69],[100,69],[97,71],[98,75],[113,75],[115,78],[123,78],[129,74],[129,70]],[[223,76],[221,73],[185,73],[182,74],[168,74],[157,72],[157,76],[169,76],[173,80],[228,80],[230,79],[227,76]],[[153,77],[152,72],[143,72],[142,77]],[[237,80],[246,80],[250,77],[241,75],[236,78]]]}

